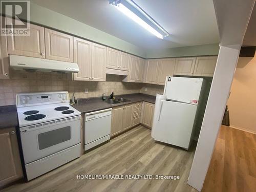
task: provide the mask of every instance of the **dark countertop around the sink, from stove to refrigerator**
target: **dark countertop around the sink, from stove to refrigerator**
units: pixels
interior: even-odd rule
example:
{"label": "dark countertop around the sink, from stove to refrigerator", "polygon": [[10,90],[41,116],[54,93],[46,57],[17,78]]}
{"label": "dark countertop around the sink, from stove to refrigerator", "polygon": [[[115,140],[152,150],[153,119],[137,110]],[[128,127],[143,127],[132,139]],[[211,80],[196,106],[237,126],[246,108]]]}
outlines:
{"label": "dark countertop around the sink, from stove to refrigerator", "polygon": [[[106,96],[108,97],[108,96]],[[79,99],[78,104],[74,104],[73,107],[80,111],[81,113],[90,113],[94,111],[104,110],[108,108],[114,108],[115,106],[140,102],[140,101],[146,101],[150,103],[155,103],[156,97],[152,95],[146,95],[142,93],[136,93],[136,94],[126,94],[126,95],[114,95],[114,97],[123,97],[125,99],[129,99],[131,101],[128,102],[120,102],[116,104],[109,104],[106,103],[101,99],[101,97],[94,97],[94,98],[88,98],[88,99]]]}

